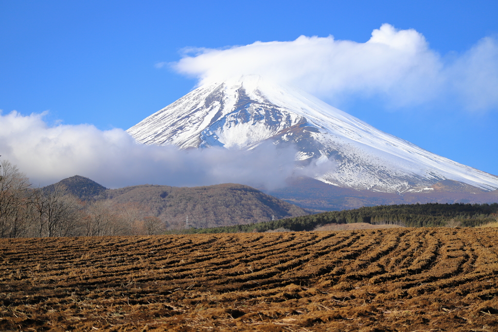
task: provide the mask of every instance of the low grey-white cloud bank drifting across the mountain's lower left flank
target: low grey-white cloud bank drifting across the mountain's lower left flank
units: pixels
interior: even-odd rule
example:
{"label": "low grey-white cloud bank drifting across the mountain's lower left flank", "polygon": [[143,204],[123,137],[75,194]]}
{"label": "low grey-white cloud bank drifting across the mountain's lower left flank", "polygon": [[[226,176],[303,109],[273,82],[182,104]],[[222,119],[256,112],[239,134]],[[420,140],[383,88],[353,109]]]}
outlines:
{"label": "low grey-white cloud bank drifting across the mountain's lower left flank", "polygon": [[[123,129],[93,125],[48,126],[44,114],[0,114],[0,155],[35,185],[81,175],[108,188],[139,184],[201,186],[241,183],[284,185],[294,172],[295,150],[272,144],[247,151],[179,150],[137,144]],[[315,166],[310,166],[315,167]],[[310,168],[307,174],[313,173]]]}

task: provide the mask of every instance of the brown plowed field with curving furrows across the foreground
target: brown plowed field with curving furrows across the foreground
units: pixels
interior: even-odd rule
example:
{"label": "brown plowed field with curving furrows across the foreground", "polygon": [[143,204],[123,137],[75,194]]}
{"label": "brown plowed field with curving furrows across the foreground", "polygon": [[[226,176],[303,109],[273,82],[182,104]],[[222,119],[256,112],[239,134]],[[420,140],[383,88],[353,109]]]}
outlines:
{"label": "brown plowed field with curving furrows across the foreground", "polygon": [[0,240],[0,331],[498,331],[496,228]]}

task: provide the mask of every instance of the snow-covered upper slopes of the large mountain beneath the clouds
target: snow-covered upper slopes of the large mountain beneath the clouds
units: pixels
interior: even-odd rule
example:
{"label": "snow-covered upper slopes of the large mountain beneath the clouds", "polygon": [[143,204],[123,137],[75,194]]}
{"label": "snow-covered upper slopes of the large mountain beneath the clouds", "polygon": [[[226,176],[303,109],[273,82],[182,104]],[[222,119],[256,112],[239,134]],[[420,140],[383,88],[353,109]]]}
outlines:
{"label": "snow-covered upper slopes of the large mountain beneath the clouds", "polygon": [[180,148],[294,144],[297,167],[333,161],[334,167],[315,178],[340,187],[420,192],[448,179],[498,189],[495,175],[426,151],[299,89],[259,76],[201,86],[127,131],[140,143]]}

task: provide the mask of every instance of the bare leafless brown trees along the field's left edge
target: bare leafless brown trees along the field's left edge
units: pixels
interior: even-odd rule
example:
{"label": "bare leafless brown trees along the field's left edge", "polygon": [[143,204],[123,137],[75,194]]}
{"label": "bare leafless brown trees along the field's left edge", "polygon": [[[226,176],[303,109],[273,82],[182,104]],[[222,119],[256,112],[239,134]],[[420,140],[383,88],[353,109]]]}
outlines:
{"label": "bare leafless brown trees along the field's left edge", "polygon": [[164,223],[137,204],[82,201],[65,186],[34,187],[8,160],[0,163],[0,238],[154,235]]}

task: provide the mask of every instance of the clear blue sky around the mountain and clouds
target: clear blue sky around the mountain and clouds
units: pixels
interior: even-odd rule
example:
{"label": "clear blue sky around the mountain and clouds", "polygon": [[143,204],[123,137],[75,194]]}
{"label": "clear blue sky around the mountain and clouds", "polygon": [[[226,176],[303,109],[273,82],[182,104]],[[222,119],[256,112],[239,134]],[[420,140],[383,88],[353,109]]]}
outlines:
{"label": "clear blue sky around the mountain and clouds", "polygon": [[[187,47],[226,49],[301,35],[362,44],[388,23],[397,31],[414,29],[438,64],[448,67],[483,38],[497,40],[497,17],[497,1],[0,0],[0,110],[23,116],[48,111],[40,123],[49,127],[127,129],[196,85],[195,75],[170,65]],[[488,76],[498,80],[497,54],[488,60]],[[353,89],[343,98],[326,90],[318,97],[424,149],[497,175],[498,90],[487,94],[491,102],[484,107],[462,102],[455,91],[404,104],[372,88]]]}

